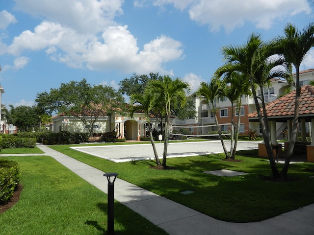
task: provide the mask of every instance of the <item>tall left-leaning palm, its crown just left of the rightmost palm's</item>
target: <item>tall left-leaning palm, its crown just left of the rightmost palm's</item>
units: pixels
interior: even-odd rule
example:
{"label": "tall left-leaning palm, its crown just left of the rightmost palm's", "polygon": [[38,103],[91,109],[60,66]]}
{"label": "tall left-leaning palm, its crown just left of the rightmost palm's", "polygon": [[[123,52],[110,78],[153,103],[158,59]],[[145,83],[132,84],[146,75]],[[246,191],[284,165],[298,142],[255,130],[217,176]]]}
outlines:
{"label": "tall left-leaning palm, its crown just left of the rightmost palm's", "polygon": [[[255,33],[252,33],[244,46],[223,47],[221,52],[226,64],[218,69],[217,73],[219,75],[224,73],[231,74],[234,71],[238,71],[248,78],[247,83],[251,86],[272,173],[275,178],[279,178],[280,174],[272,151],[270,128],[266,115],[262,89],[265,86],[267,87],[269,79],[274,75],[270,75],[274,68],[272,66],[282,62],[282,60],[280,62],[277,62],[276,58],[274,58],[273,61],[269,60],[274,54],[273,48],[262,41],[261,35],[256,35]],[[261,89],[261,98],[256,94],[256,85]],[[259,99],[262,101],[262,111]]]}

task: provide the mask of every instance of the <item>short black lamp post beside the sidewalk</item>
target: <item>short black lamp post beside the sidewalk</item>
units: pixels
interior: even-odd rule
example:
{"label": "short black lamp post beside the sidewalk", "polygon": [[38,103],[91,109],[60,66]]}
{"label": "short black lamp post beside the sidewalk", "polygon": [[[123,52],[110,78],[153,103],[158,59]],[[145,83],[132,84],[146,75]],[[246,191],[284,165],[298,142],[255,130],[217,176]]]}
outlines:
{"label": "short black lamp post beside the sidewalk", "polygon": [[107,232],[108,235],[113,235],[113,205],[114,205],[114,181],[116,180],[118,173],[109,172],[104,176],[108,180],[108,213],[107,213]]}

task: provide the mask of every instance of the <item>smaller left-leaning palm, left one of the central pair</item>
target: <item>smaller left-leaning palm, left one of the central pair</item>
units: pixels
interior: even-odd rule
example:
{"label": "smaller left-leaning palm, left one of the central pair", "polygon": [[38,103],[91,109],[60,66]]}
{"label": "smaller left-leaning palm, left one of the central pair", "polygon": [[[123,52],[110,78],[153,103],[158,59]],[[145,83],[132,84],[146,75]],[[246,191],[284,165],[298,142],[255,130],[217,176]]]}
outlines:
{"label": "smaller left-leaning palm, left one of the central pair", "polygon": [[159,160],[159,157],[157,154],[155,141],[154,141],[154,137],[153,137],[153,133],[152,133],[152,126],[151,126],[150,118],[149,118],[150,111],[152,109],[154,109],[155,104],[156,104],[156,102],[155,102],[156,100],[154,99],[154,97],[151,94],[148,94],[148,93],[131,94],[130,100],[131,100],[131,103],[133,103],[133,104],[139,104],[136,106],[134,106],[134,105],[131,106],[131,109],[130,109],[130,117],[131,118],[133,118],[134,113],[138,110],[142,110],[145,113],[145,118],[146,118],[147,123],[148,123],[148,130],[149,130],[149,135],[150,135],[151,143],[152,143],[153,150],[154,150],[156,163],[157,163],[157,166],[161,166],[160,160]]}

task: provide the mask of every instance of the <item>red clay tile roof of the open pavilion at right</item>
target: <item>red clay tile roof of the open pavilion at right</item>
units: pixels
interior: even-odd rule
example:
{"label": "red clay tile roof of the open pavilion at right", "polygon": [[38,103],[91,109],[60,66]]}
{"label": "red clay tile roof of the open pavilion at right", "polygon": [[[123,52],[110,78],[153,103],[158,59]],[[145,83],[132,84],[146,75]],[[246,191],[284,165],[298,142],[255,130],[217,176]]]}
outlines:
{"label": "red clay tile roof of the open pavilion at right", "polygon": [[[286,94],[266,105],[268,118],[293,116],[295,91]],[[314,86],[305,85],[301,88],[299,115],[312,116],[314,118]],[[257,118],[257,111],[248,114],[248,118]]]}

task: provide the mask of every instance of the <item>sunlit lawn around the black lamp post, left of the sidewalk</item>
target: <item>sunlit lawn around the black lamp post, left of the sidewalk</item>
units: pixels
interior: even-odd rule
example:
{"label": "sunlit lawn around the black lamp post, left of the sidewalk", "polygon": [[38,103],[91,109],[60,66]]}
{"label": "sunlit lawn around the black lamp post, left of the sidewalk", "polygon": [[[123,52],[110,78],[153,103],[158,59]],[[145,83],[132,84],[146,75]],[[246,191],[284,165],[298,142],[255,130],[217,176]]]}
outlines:
{"label": "sunlit lawn around the black lamp post, left of the sidewalk", "polygon": [[[20,149],[21,150],[21,149]],[[103,235],[107,195],[48,156],[3,157],[18,162],[20,200],[0,214],[1,235]],[[115,202],[116,235],[167,233]]]}

